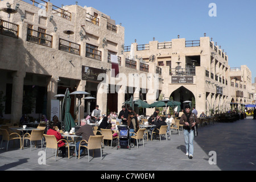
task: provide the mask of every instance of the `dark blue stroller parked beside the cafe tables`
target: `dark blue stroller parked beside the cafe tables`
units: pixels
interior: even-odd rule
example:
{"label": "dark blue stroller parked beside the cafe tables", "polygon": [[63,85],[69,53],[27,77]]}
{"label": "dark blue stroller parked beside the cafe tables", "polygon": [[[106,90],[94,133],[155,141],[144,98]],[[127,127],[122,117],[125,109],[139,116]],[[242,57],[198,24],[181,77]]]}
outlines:
{"label": "dark blue stroller parked beside the cafe tables", "polygon": [[130,132],[127,125],[119,125],[117,126],[119,134],[118,134],[118,146],[117,150],[119,148],[130,148]]}

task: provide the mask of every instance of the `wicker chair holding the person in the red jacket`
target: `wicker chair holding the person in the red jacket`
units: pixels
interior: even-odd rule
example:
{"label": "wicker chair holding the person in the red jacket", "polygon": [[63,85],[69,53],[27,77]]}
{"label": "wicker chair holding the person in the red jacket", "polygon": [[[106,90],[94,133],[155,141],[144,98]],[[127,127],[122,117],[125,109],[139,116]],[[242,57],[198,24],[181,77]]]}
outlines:
{"label": "wicker chair holding the person in the red jacket", "polygon": [[46,139],[46,152],[47,152],[47,148],[53,148],[55,149],[55,161],[56,161],[56,155],[58,153],[58,143],[60,141],[64,141],[66,144],[65,146],[68,146],[68,159],[69,159],[69,144],[68,141],[65,139],[60,139],[59,141],[57,141],[55,135],[46,135],[44,134],[44,138]]}

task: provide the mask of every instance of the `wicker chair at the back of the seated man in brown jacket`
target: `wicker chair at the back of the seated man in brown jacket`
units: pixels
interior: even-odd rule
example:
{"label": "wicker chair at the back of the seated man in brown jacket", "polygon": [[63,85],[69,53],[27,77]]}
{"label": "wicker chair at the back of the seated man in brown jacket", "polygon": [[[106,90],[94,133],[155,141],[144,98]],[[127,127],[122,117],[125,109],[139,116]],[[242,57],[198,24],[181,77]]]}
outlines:
{"label": "wicker chair at the back of the seated man in brown jacket", "polygon": [[[86,140],[81,140],[79,144],[79,159],[80,159],[80,148],[85,147],[87,148],[88,151],[88,162],[90,162],[90,154],[89,150],[93,150],[93,157],[94,157],[94,150],[95,149],[100,149],[101,150],[101,160],[102,160],[102,140],[103,140],[104,135],[97,135],[97,136],[90,136],[88,142]],[[81,145],[82,142],[88,143],[88,146],[83,146]]]}

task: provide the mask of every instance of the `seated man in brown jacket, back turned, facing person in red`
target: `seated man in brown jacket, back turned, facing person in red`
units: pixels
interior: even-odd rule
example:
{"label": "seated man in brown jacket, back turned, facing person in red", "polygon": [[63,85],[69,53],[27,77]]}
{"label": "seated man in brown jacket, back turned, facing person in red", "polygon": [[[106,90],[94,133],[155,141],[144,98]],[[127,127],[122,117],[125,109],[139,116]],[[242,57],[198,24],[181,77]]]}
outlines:
{"label": "seated man in brown jacket, back turned, facing person in red", "polygon": [[[82,140],[86,140],[88,142],[90,136],[94,136],[93,133],[93,127],[91,125],[87,125],[87,120],[86,119],[81,119],[81,127],[79,130],[76,131],[76,135],[81,135]],[[76,143],[76,154],[79,152],[79,144],[80,142]],[[88,144],[82,141],[81,145],[87,146]],[[84,147],[81,147],[80,149],[80,155],[82,154],[82,151],[84,151]],[[74,153],[73,156],[76,156]]]}

